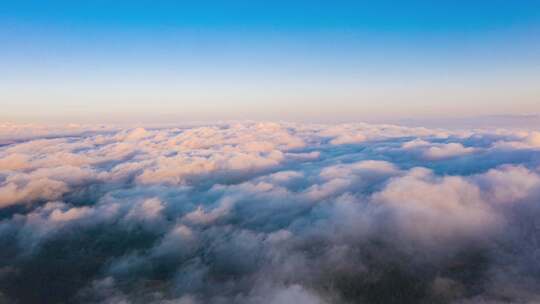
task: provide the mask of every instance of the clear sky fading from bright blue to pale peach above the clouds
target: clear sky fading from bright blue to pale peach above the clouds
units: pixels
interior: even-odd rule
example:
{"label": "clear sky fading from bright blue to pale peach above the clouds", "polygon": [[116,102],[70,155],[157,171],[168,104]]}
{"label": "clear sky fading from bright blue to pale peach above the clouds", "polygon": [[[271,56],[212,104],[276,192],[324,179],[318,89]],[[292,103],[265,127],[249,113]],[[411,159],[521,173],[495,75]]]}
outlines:
{"label": "clear sky fading from bright blue to pale peach above the clouds", "polygon": [[540,1],[4,1],[0,45],[2,121],[540,113]]}

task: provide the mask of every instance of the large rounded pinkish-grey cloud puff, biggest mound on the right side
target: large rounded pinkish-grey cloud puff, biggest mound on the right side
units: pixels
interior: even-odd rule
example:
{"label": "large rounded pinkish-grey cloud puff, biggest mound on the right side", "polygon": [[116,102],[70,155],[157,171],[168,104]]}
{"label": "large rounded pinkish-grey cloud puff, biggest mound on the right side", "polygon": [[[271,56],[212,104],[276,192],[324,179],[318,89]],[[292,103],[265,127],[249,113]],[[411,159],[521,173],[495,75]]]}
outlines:
{"label": "large rounded pinkish-grey cloud puff, biggest mound on the right side", "polygon": [[500,224],[477,186],[457,176],[436,177],[423,168],[391,180],[375,200],[389,206],[392,222],[408,240],[438,246],[482,238]]}

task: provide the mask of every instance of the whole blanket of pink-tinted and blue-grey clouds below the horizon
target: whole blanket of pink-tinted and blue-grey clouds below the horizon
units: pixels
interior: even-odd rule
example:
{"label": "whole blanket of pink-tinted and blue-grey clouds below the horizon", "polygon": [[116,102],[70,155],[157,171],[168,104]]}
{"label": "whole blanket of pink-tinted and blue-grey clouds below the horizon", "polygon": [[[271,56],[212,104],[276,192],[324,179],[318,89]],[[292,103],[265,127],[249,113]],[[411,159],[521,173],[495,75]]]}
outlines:
{"label": "whole blanket of pink-tinted and blue-grey clouds below the horizon", "polygon": [[539,303],[540,133],[0,124],[0,303]]}

